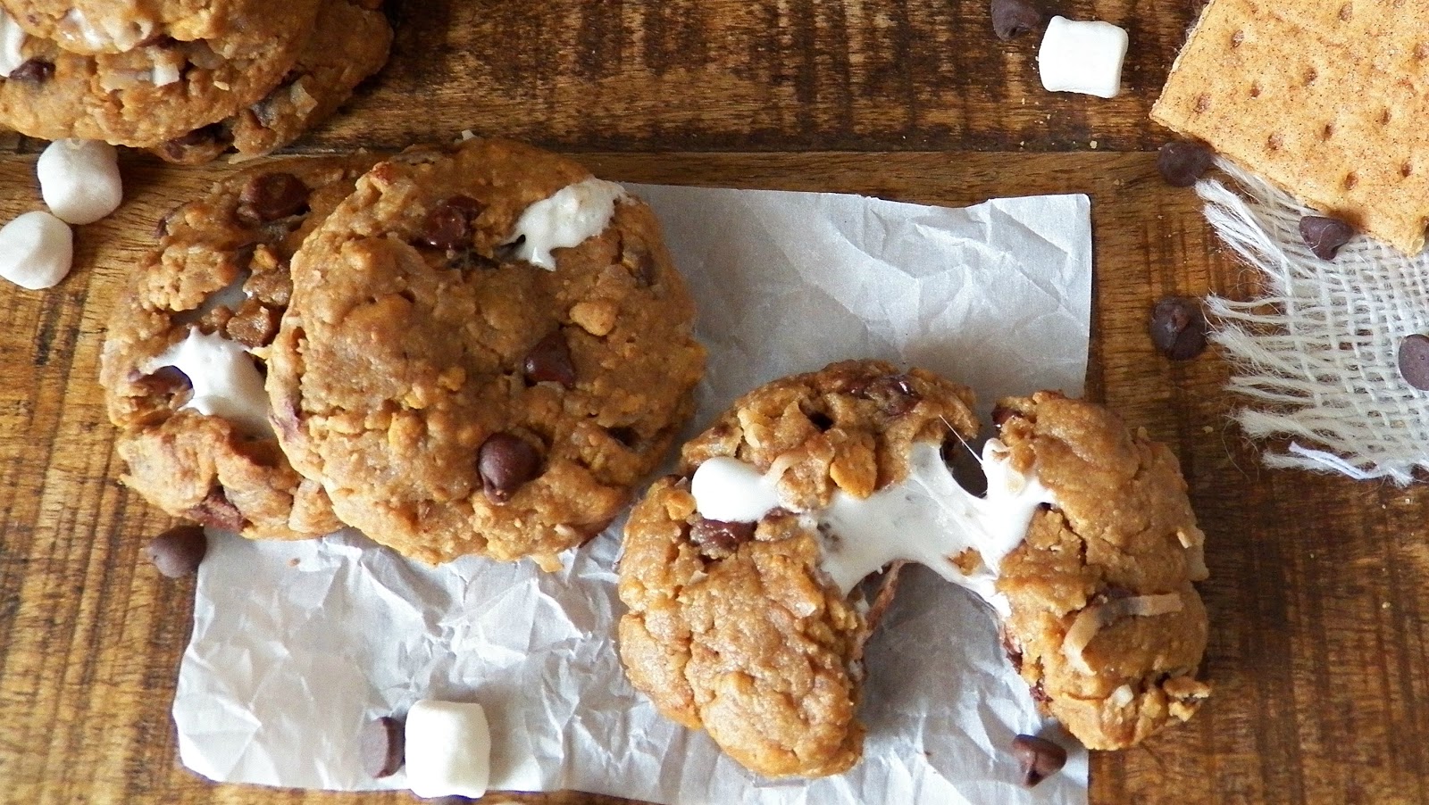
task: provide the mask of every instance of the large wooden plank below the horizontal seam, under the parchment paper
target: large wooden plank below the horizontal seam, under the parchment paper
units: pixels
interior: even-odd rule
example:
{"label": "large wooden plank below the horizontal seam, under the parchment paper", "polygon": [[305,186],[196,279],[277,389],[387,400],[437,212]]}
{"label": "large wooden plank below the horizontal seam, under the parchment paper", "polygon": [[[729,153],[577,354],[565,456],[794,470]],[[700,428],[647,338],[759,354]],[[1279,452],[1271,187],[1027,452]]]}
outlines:
{"label": "large wooden plank below the horizontal seam, under the parchment paper", "polygon": [[[1172,364],[1146,337],[1167,293],[1249,291],[1189,191],[1149,154],[584,153],[610,178],[839,190],[970,204],[1093,198],[1090,394],[1179,454],[1209,535],[1210,704],[1146,746],[1102,754],[1092,801],[1422,802],[1429,792],[1429,498],[1268,471],[1228,424],[1228,367]],[[39,206],[33,158],[0,158],[0,220]],[[104,318],[153,223],[220,176],[126,156],[129,200],[79,230],[74,274],[0,287],[0,799],[397,802],[214,786],[176,765],[169,707],[191,579],[140,558],[167,520],[116,482],[97,388]],[[584,795],[527,802],[613,802]]]}

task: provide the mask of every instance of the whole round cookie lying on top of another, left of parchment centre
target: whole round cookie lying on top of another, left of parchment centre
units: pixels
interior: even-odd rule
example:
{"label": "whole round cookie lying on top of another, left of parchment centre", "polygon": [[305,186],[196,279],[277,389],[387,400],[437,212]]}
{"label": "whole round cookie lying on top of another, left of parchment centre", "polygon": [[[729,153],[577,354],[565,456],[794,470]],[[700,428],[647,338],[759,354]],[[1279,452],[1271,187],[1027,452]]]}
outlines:
{"label": "whole round cookie lying on top of another, left of parchment centre", "polygon": [[556,568],[687,418],[693,318],[644,203],[469,140],[379,164],[303,244],[267,390],[293,465],[373,540]]}

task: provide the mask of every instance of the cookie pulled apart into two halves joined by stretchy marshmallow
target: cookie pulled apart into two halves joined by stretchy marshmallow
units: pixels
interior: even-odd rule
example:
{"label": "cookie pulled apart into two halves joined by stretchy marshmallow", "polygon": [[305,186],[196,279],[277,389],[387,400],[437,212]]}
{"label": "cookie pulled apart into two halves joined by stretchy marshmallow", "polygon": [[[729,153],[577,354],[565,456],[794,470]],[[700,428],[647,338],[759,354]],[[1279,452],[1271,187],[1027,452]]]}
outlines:
{"label": "cookie pulled apart into two halves joined by stretchy marshmallow", "polygon": [[627,521],[632,684],[759,774],[843,771],[863,735],[859,584],[916,561],[989,605],[1039,705],[1087,746],[1189,718],[1209,694],[1203,535],[1175,458],[1106,408],[1039,393],[999,407],[975,497],[949,468],[977,432],[972,402],[879,361],[736,402]]}

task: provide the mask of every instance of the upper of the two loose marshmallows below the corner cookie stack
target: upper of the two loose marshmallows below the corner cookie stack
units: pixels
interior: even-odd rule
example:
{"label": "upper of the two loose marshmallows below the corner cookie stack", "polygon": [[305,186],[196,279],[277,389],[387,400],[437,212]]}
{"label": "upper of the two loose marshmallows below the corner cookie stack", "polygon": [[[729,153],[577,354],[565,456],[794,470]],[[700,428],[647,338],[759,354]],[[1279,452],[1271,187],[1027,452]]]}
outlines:
{"label": "upper of the two loose marshmallows below the corner cookie stack", "polygon": [[93,224],[124,200],[119,151],[109,143],[56,140],[40,154],[34,173],[50,211],[71,224]]}

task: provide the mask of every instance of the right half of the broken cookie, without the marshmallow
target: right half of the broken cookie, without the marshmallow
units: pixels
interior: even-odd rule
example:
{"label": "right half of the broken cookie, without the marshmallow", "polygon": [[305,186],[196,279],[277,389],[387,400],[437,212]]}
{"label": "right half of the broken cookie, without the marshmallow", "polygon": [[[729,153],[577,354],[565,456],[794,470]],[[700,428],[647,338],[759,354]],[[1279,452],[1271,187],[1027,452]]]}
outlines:
{"label": "right half of the broken cookie, without the marshmallow", "polygon": [[1192,587],[1206,565],[1175,455],[1055,393],[1002,400],[995,417],[1012,464],[1035,467],[1057,501],[1002,562],[1013,665],[1090,749],[1186,721],[1210,692],[1196,679],[1208,627]]}

